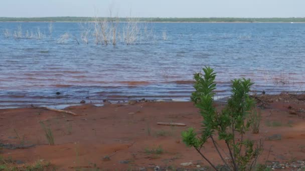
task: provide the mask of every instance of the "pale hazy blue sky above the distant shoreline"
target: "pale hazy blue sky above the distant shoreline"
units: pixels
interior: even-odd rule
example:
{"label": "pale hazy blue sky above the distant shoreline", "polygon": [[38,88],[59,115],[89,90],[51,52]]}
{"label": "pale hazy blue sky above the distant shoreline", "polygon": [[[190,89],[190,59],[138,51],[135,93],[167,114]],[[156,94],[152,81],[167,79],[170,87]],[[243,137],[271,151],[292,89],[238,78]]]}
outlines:
{"label": "pale hazy blue sky above the distant shoreline", "polygon": [[0,16],[305,17],[305,0],[1,0]]}

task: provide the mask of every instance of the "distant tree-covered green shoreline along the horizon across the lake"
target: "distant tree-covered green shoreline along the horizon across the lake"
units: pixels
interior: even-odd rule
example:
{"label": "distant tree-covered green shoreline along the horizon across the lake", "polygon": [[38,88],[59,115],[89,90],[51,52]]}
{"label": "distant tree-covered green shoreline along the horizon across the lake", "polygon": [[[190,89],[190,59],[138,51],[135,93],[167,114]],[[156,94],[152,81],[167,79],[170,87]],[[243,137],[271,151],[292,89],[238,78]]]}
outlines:
{"label": "distant tree-covered green shoreline along the horizon across the lake", "polygon": [[[99,17],[98,19],[118,20],[127,22],[130,18]],[[232,17],[209,17],[209,18],[159,18],[159,17],[132,17],[136,22],[165,22],[165,23],[305,23],[305,17],[289,18],[232,18]],[[93,17],[59,16],[59,17],[0,17],[0,22],[93,22]]]}

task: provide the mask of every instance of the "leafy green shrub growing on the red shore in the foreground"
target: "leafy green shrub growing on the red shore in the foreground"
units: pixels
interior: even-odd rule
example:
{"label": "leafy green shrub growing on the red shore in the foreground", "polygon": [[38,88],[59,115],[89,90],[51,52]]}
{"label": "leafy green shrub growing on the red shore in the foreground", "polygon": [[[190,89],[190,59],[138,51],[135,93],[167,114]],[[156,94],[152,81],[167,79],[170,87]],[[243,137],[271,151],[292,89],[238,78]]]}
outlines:
{"label": "leafy green shrub growing on the red shore in the foreground", "polygon": [[[245,78],[232,80],[232,95],[228,99],[225,108],[221,112],[217,112],[213,106],[216,73],[210,67],[203,68],[203,71],[204,74],[194,74],[194,87],[196,90],[191,97],[203,116],[202,134],[198,137],[195,129],[189,128],[187,131],[182,132],[183,141],[187,146],[195,147],[215,170],[219,169],[201,151],[208,139],[213,142],[226,168],[235,171],[254,170],[257,158],[263,149],[262,143],[261,141],[255,142],[244,137],[244,134],[252,124],[247,117],[255,106],[254,99],[248,95],[253,83],[250,79]],[[219,140],[225,142],[227,151],[222,149],[214,139],[216,135],[218,135]]]}

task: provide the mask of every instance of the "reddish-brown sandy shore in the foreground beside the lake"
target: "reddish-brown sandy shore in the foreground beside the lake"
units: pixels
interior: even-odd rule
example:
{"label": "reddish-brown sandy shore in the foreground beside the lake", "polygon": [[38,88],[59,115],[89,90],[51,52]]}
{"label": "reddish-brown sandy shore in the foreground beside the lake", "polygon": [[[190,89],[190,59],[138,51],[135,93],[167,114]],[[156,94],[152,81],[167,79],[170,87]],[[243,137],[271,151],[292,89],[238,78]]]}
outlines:
{"label": "reddish-brown sandy shore in the foreground beside the lake", "polygon": [[[280,140],[265,140],[260,161],[286,162],[305,158],[305,120],[298,113],[305,108],[302,100],[266,100],[257,139],[280,134]],[[221,108],[223,104],[215,104]],[[2,149],[0,155],[26,163],[50,161],[58,170],[76,167],[99,167],[104,170],[139,170],[142,167],[197,168],[208,166],[194,148],[181,140],[181,131],[192,126],[199,130],[202,117],[192,102],[137,102],[106,104],[103,107],[81,105],[66,110],[80,114],[50,111],[43,108],[0,110],[0,140],[3,144],[35,146]],[[295,113],[293,113],[295,111]],[[48,145],[40,122],[50,125],[55,145]],[[179,122],[187,126],[163,126],[157,122]],[[223,145],[223,144],[222,144]],[[18,145],[17,145],[18,146]],[[162,148],[161,154],[149,152]],[[221,163],[215,148],[208,142],[204,152],[215,164]],[[109,156],[109,157],[107,157]],[[192,161],[187,167],[182,162]]]}

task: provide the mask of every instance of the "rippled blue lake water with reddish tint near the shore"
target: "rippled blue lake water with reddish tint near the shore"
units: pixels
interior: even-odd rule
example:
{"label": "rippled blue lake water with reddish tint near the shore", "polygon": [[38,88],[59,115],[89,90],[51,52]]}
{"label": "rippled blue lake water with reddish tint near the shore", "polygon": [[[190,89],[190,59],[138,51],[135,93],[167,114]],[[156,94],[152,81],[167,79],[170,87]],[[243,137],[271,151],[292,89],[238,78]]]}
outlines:
{"label": "rippled blue lake water with reddish tint near the shore", "polygon": [[129,45],[119,23],[115,46],[96,44],[93,24],[48,25],[0,22],[0,108],[189,100],[205,65],[217,71],[218,98],[240,77],[257,93],[304,90],[305,23],[137,23]]}

